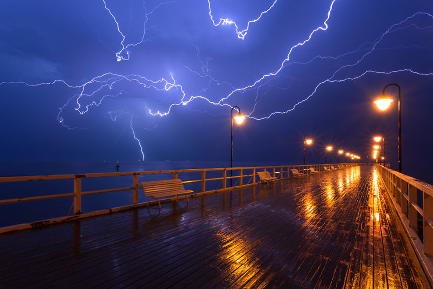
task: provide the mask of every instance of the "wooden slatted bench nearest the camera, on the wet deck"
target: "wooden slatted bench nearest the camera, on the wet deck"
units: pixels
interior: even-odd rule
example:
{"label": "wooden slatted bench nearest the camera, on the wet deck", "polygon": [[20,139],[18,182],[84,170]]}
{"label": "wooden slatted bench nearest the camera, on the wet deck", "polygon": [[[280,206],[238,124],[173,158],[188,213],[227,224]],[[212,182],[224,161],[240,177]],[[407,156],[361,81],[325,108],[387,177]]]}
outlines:
{"label": "wooden slatted bench nearest the camera, on the wet deck", "polygon": [[161,209],[161,203],[158,198],[175,196],[177,199],[179,195],[185,194],[186,201],[189,203],[187,193],[194,193],[192,190],[185,190],[181,179],[142,182],[141,185],[143,186],[144,195],[150,197],[147,206],[149,207],[149,202],[155,199],[158,202],[159,209]]}

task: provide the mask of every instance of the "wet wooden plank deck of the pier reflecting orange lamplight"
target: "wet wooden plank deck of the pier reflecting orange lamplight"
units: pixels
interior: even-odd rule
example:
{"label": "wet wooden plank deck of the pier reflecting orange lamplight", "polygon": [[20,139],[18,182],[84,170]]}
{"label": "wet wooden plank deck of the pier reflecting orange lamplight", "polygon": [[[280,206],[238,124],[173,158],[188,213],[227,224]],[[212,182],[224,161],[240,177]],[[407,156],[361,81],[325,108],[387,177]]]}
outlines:
{"label": "wet wooden plank deck of the pier reflecting orange lamplight", "polygon": [[0,288],[430,288],[396,218],[370,166],[325,172],[0,235]]}

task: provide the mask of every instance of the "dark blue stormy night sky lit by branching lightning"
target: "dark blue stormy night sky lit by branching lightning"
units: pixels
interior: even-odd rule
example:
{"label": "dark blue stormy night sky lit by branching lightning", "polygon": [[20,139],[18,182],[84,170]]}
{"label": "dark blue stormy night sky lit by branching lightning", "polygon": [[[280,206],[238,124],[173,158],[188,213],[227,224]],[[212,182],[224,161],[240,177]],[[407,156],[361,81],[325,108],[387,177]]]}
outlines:
{"label": "dark blue stormy night sky lit by branching lightning", "polygon": [[398,83],[403,165],[431,163],[432,14],[426,0],[3,0],[1,160],[229,161],[236,105],[235,164],[302,163],[304,134],[310,163],[327,144],[366,160],[384,130],[397,167],[398,90],[390,111],[372,101]]}

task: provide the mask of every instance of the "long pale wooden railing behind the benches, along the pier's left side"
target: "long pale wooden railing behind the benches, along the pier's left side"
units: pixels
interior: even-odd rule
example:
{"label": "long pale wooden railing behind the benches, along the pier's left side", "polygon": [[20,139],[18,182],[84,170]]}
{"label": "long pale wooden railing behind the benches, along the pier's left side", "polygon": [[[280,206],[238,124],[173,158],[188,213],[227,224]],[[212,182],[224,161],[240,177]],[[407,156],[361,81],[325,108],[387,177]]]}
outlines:
{"label": "long pale wooden railing behind the benches, along the pier's left side", "polygon": [[[358,165],[357,163],[343,163],[345,165]],[[329,165],[339,165],[339,164],[326,164]],[[131,191],[132,190],[132,206],[126,205],[123,207],[118,207],[118,209],[122,208],[131,208],[141,206],[143,203],[140,203],[138,200],[139,190],[142,186],[139,184],[139,177],[145,175],[159,175],[159,174],[172,174],[173,179],[179,178],[181,174],[181,179],[184,179],[185,174],[191,173],[201,173],[201,178],[189,180],[186,178],[183,181],[183,184],[191,184],[191,183],[201,183],[200,192],[195,192],[194,195],[206,194],[206,193],[218,193],[224,192],[231,189],[239,189],[248,186],[254,186],[258,184],[256,180],[256,172],[259,170],[269,170],[271,175],[274,177],[278,176],[278,180],[287,179],[293,177],[291,174],[291,168],[297,168],[300,171],[304,171],[306,175],[309,175],[309,167],[314,167],[315,170],[324,171],[324,164],[308,164],[308,165],[277,165],[277,166],[249,166],[249,167],[225,167],[225,168],[202,168],[202,169],[181,169],[181,170],[158,170],[158,171],[133,171],[133,172],[110,172],[110,173],[89,173],[89,174],[65,174],[65,175],[40,175],[40,176],[8,176],[8,177],[0,177],[0,183],[12,183],[12,182],[27,182],[27,181],[41,181],[41,180],[68,180],[73,179],[73,188],[70,189],[69,192],[62,192],[59,194],[49,194],[49,195],[37,195],[37,196],[29,196],[29,197],[21,197],[21,198],[9,198],[9,199],[0,199],[0,206],[4,204],[14,204],[14,203],[22,203],[22,202],[30,202],[36,200],[47,200],[47,199],[56,199],[56,198],[64,198],[64,197],[73,197],[73,212],[74,215],[82,215],[81,207],[82,207],[82,196],[90,195],[90,194],[99,194],[99,193],[113,193],[113,192],[122,192],[122,191]],[[227,176],[227,171],[233,170],[237,175]],[[252,170],[252,174],[251,174]],[[210,178],[206,177],[207,172],[221,172],[222,177],[212,176]],[[244,174],[245,173],[245,174]],[[278,175],[279,174],[279,175]],[[286,177],[284,177],[286,175]],[[132,186],[131,187],[123,187],[123,188],[113,188],[113,189],[104,189],[104,190],[95,190],[95,191],[82,191],[81,184],[83,179],[88,178],[105,178],[105,177],[119,177],[119,176],[132,176]],[[247,184],[244,184],[244,178],[250,178]],[[237,179],[236,183],[239,183],[238,186],[234,186],[233,188],[227,187],[227,181],[230,179]],[[252,179],[252,182],[251,182]],[[206,190],[207,183],[212,181],[221,181],[223,186],[221,189],[216,188],[212,190]],[[219,186],[218,186],[219,187]],[[72,191],[72,192],[71,192]],[[0,195],[1,197],[1,195]],[[129,201],[128,201],[129,202]],[[113,208],[112,208],[113,209]],[[112,209],[109,209],[110,211]],[[103,210],[106,212],[107,210]],[[94,214],[93,214],[94,215]],[[57,218],[57,219],[65,219],[66,217]],[[51,219],[55,220],[55,219]],[[44,224],[50,224],[50,222],[45,222]],[[26,226],[27,225],[27,226]],[[16,227],[29,227],[29,224],[21,224],[16,225]],[[16,229],[15,225],[7,227],[8,229],[0,228],[0,233],[8,230]]]}

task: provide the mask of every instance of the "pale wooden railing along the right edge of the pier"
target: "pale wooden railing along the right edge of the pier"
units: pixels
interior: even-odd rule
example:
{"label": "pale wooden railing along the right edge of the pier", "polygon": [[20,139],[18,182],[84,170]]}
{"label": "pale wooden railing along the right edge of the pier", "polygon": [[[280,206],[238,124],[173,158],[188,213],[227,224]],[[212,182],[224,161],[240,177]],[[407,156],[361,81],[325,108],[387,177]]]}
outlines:
{"label": "pale wooden railing along the right edge of the pier", "polygon": [[426,274],[433,276],[433,186],[377,165]]}

